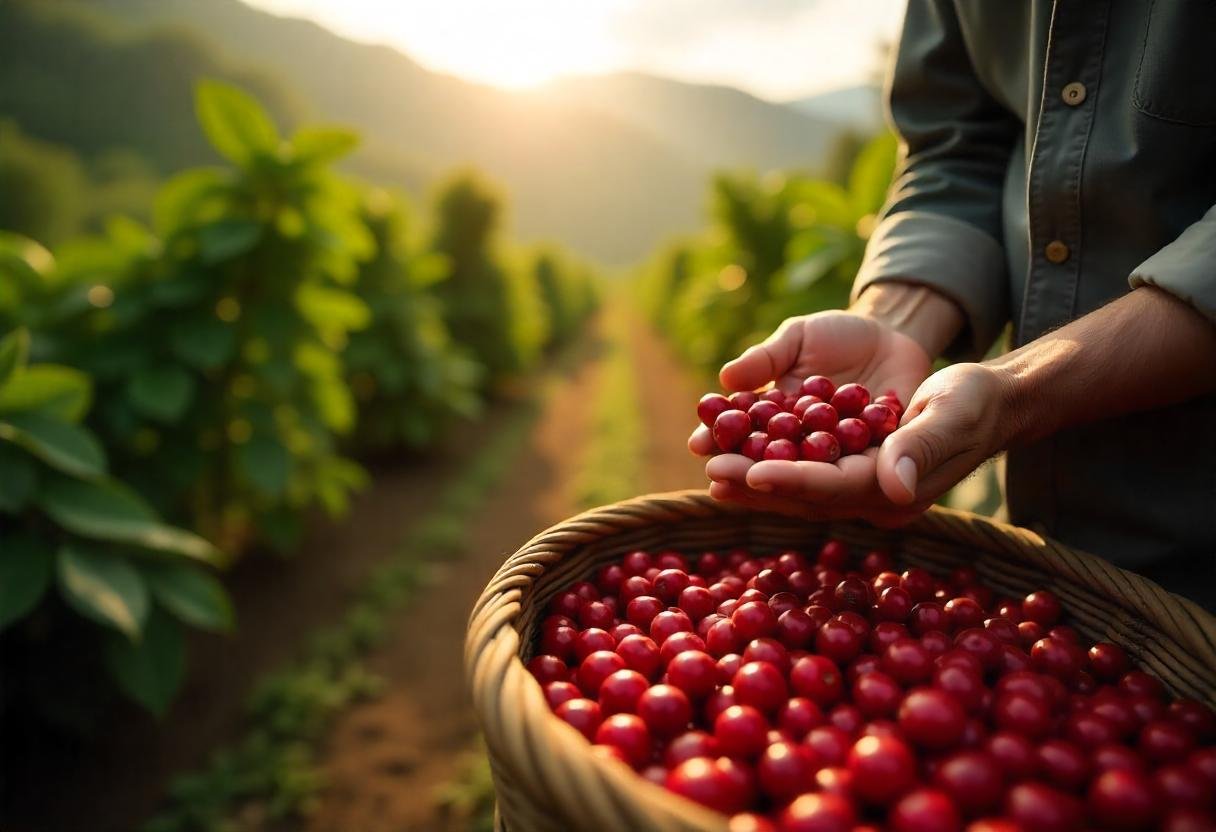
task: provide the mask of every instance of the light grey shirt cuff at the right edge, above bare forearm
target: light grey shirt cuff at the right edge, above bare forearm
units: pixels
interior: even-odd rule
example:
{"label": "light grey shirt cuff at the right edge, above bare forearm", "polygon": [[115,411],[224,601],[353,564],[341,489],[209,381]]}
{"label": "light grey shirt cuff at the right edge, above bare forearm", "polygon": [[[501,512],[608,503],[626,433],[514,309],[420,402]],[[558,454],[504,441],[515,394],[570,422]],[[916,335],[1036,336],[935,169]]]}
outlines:
{"label": "light grey shirt cuff at the right edge, above bare forearm", "polygon": [[1216,324],[1216,208],[1141,263],[1127,282],[1169,292]]}

